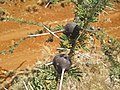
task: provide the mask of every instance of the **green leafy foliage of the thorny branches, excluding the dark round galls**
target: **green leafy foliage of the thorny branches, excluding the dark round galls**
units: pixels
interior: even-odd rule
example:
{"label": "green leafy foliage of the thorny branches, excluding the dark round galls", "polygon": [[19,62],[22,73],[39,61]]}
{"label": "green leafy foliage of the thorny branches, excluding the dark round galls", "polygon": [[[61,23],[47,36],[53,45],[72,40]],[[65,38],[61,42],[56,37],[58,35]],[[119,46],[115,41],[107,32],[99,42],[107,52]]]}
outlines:
{"label": "green leafy foliage of the thorny branches, excluding the dark round galls", "polygon": [[[58,1],[58,0],[55,0]],[[67,50],[67,49],[73,49],[75,51],[83,49],[84,51],[89,51],[90,48],[87,47],[90,43],[88,41],[90,40],[90,35],[95,36],[96,39],[101,41],[102,45],[102,51],[107,56],[107,60],[111,62],[111,68],[110,68],[110,77],[111,81],[115,82],[115,78],[119,79],[120,76],[120,63],[116,61],[117,55],[120,53],[120,44],[116,40],[114,40],[111,37],[108,37],[102,30],[93,28],[90,28],[93,30],[93,32],[86,31],[84,29],[88,29],[90,22],[97,22],[97,16],[99,15],[102,10],[106,8],[106,6],[109,4],[109,0],[73,0],[76,8],[75,8],[75,20],[83,30],[80,31],[79,36],[75,39],[74,46],[71,45],[72,39],[68,38],[66,35],[61,35],[61,43],[60,46]],[[26,21],[23,19],[17,19],[13,17],[0,17],[0,20],[6,20],[6,21],[15,21],[19,23],[24,24],[31,24],[31,25],[37,25],[42,26],[42,23],[33,22],[33,21]],[[59,27],[61,28],[61,26]],[[39,32],[42,33],[42,32]],[[15,50],[15,48],[26,39],[30,39],[32,37],[25,37],[20,39],[18,42],[15,43],[15,45],[11,46],[10,49],[2,51],[0,54],[6,54],[6,52],[12,52]],[[104,41],[108,43],[104,43]],[[116,52],[114,54],[114,51]],[[71,67],[71,69],[68,71],[68,76],[72,76],[78,81],[80,81],[81,72],[78,70],[76,66]],[[14,81],[15,83],[18,81]],[[57,80],[56,80],[56,72],[53,68],[53,66],[45,66],[42,65],[39,67],[36,71],[32,71],[32,77],[29,77],[27,79],[28,83],[31,83],[32,88],[34,90],[55,90],[57,87]],[[14,83],[14,84],[15,84]],[[22,85],[22,86],[28,86],[29,84]],[[26,89],[27,90],[27,89]]]}

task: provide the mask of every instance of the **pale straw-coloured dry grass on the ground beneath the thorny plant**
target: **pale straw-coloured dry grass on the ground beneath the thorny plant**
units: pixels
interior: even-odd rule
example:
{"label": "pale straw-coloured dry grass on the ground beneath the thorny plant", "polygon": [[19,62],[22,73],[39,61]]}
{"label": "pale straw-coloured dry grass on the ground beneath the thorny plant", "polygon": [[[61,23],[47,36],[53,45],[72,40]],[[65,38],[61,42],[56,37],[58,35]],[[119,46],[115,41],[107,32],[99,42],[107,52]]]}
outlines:
{"label": "pale straw-coloured dry grass on the ground beneath the thorny plant", "polygon": [[[43,53],[48,57],[44,57],[45,62],[50,61],[51,54],[50,49],[45,47]],[[119,90],[119,83],[112,83],[110,80],[110,62],[105,60],[105,56],[101,51],[94,53],[86,53],[90,55],[89,58],[81,57],[79,54],[76,54],[73,58],[73,65],[76,65],[79,68],[79,71],[82,72],[82,77],[80,81],[77,81],[73,77],[68,77],[66,73],[66,80],[63,83],[62,90]],[[118,57],[119,58],[119,57]],[[9,81],[10,88],[9,90],[26,90],[23,85],[23,81],[28,83],[35,75],[35,71],[39,69],[45,62],[38,61],[33,67],[29,67],[22,73],[16,74]],[[20,71],[19,71],[20,72]],[[59,83],[57,87],[59,86]]]}

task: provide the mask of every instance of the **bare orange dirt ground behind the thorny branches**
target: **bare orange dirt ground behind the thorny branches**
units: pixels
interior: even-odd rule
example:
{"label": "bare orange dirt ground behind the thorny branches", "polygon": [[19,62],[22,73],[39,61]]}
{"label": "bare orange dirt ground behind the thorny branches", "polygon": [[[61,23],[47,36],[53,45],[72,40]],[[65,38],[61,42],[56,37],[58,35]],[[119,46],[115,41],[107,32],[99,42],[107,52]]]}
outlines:
{"label": "bare orange dirt ground behind the thorny branches", "polygon": [[[34,0],[33,3],[35,3]],[[66,22],[61,21],[70,21],[74,17],[74,6],[72,4],[65,7],[54,6],[51,8],[39,6],[38,11],[34,13],[25,11],[28,5],[30,5],[29,1],[26,3],[17,3],[17,5],[8,3],[0,6],[6,9],[12,16],[36,22],[65,24]],[[120,41],[120,5],[116,4],[114,9],[111,11],[107,10],[107,14],[101,14],[101,21],[93,25],[108,29],[106,32]],[[109,19],[109,21],[102,22],[104,19]],[[40,28],[37,26],[16,22],[0,22],[0,50],[8,49],[15,41],[38,29]],[[21,43],[14,53],[0,55],[0,69],[23,69],[29,65],[33,65],[37,60],[44,60],[45,55],[52,55],[54,53],[52,51],[55,51],[56,47],[59,46],[59,41],[55,39],[52,43],[46,43],[46,39],[46,36],[28,39]],[[50,47],[50,49],[47,47]]]}

